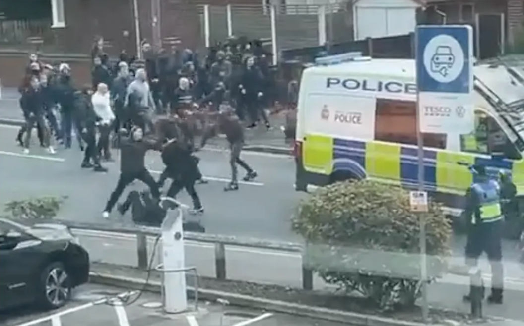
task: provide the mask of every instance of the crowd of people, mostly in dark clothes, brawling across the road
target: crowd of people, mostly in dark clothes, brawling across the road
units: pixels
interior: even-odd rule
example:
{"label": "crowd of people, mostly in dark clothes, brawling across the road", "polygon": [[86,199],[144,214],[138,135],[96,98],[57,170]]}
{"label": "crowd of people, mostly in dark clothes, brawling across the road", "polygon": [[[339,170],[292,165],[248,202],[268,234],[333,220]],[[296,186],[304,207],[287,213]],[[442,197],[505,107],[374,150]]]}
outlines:
{"label": "crowd of people, mostly in dark clothes, brawling across the road", "polygon": [[[103,209],[106,218],[135,179],[148,186],[153,199],[171,179],[167,196],[185,189],[193,201],[191,212],[202,213],[194,185],[205,180],[194,153],[210,138],[223,134],[230,144],[231,182],[225,191],[238,189],[237,165],[246,171],[245,181],[257,177],[240,154],[245,128],[259,121],[271,128],[265,111],[274,100],[270,57],[260,43],[238,40],[211,48],[202,60],[189,49],[154,50],[147,42],[142,50],[143,60],[125,52],[110,60],[100,39],[92,51],[92,83],[80,88],[67,63],[48,65],[31,54],[19,87],[26,125],[17,141],[29,153],[36,128],[40,145],[54,153],[57,143],[71,148],[75,135],[84,152],[82,168],[95,172],[107,172],[103,162],[113,160],[111,144],[119,148],[120,176]],[[195,144],[198,131],[202,137]],[[158,181],[145,166],[149,150],[160,151],[165,164]],[[121,213],[129,206],[125,203],[118,205]]]}

